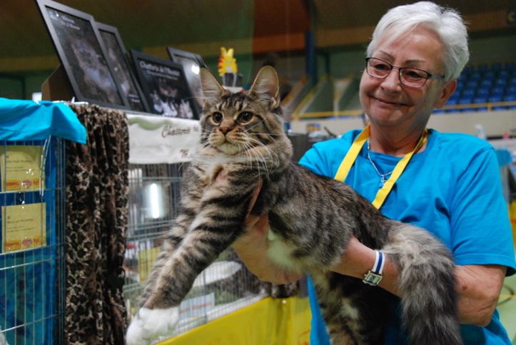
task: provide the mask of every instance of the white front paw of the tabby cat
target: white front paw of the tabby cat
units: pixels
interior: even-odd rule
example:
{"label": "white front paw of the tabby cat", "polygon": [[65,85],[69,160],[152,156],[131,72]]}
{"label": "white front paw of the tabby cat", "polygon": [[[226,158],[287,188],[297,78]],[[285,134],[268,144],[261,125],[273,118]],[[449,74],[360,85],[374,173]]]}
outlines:
{"label": "white front paw of the tabby cat", "polygon": [[170,334],[179,321],[179,308],[141,308],[133,317],[126,334],[127,345],[151,344],[158,336]]}

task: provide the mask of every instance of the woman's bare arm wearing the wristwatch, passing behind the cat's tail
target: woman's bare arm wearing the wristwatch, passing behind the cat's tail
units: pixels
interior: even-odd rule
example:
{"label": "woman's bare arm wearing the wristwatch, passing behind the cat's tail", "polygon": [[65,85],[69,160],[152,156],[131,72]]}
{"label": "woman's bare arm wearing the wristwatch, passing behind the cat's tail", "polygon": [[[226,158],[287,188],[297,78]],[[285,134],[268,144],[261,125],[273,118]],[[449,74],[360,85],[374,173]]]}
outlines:
{"label": "woman's bare arm wearing the wristwatch, passing behind the cat's tail", "polygon": [[[375,252],[353,237],[333,272],[363,279],[375,262]],[[462,324],[486,326],[491,321],[507,267],[499,265],[456,266],[458,312]],[[398,269],[387,257],[379,287],[400,295]]]}

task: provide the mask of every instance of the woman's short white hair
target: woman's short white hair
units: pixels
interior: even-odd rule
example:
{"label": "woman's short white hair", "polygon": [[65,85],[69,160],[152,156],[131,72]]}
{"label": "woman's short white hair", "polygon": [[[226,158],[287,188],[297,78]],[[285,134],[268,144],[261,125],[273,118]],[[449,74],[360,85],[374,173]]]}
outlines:
{"label": "woman's short white hair", "polygon": [[467,29],[460,14],[430,1],[397,6],[390,9],[378,22],[370,41],[367,55],[375,51],[380,38],[388,32],[390,40],[408,34],[418,26],[425,26],[439,36],[444,51],[445,81],[459,77],[470,59],[467,48]]}

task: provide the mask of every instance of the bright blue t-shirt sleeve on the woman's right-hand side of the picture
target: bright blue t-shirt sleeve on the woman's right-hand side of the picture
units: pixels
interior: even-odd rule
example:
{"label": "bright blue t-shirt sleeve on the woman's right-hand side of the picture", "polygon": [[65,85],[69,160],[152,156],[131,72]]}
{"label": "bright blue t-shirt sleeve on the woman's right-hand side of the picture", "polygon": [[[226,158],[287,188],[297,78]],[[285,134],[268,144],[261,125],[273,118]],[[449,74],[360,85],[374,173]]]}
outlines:
{"label": "bright blue t-shirt sleeve on the woman's right-hand side of the picture", "polygon": [[472,156],[457,177],[450,209],[452,251],[457,264],[500,264],[516,269],[512,230],[492,148]]}

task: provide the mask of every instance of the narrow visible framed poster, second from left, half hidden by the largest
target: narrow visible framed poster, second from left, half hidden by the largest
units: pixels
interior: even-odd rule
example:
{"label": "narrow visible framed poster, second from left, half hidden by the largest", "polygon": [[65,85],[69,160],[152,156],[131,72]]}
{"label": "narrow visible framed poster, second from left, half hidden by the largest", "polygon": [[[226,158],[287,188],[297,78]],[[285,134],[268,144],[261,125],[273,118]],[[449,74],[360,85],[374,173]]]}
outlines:
{"label": "narrow visible framed poster, second from left, half hidden by the largest", "polygon": [[126,96],[129,108],[135,111],[148,112],[146,100],[126,58],[126,47],[123,46],[118,29],[98,21],[96,22],[96,27],[101,34],[103,44],[106,47],[108,61],[113,66],[113,74],[123,96]]}

